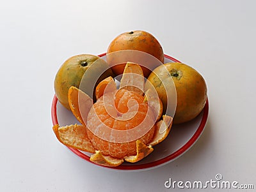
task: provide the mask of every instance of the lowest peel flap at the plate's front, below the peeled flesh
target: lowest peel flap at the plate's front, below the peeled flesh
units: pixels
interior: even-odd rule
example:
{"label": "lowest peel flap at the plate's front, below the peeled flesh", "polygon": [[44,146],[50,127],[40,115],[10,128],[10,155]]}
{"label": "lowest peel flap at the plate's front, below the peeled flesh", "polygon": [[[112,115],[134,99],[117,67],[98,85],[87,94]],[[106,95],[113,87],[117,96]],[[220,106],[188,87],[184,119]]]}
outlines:
{"label": "lowest peel flap at the plate's front, below the peeled flesh", "polygon": [[98,165],[104,166],[118,166],[124,162],[124,159],[116,159],[111,156],[104,156],[100,151],[95,151],[90,160]]}

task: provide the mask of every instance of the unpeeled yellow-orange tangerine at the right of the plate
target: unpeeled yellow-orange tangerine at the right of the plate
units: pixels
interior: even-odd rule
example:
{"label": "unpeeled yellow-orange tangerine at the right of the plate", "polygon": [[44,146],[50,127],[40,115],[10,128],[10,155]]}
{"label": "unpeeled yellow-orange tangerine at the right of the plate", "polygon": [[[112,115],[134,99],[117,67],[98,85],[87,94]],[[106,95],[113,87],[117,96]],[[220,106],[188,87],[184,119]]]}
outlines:
{"label": "unpeeled yellow-orange tangerine at the right of the plate", "polygon": [[[177,106],[173,123],[178,124],[194,119],[203,110],[207,99],[207,85],[205,80],[190,66],[182,63],[166,63],[157,67],[148,77],[145,87],[149,87],[149,82],[154,85],[159,98],[163,102],[166,110],[167,96],[164,85],[160,79],[171,76],[175,84],[177,93]],[[170,82],[170,84],[173,82]]]}

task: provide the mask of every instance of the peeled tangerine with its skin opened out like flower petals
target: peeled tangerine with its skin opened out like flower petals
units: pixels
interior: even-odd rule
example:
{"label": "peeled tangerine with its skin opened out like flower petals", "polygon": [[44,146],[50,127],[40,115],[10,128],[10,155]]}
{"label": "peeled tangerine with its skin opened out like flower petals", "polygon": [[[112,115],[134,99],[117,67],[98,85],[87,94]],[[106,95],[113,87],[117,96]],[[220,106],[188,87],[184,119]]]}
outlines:
{"label": "peeled tangerine with its skin opened out like flower petals", "polygon": [[143,71],[127,63],[116,89],[108,77],[95,90],[97,101],[76,87],[70,87],[68,102],[81,125],[53,126],[60,142],[93,153],[90,160],[104,166],[135,163],[145,158],[168,136],[172,117],[163,115],[156,91],[144,95]]}

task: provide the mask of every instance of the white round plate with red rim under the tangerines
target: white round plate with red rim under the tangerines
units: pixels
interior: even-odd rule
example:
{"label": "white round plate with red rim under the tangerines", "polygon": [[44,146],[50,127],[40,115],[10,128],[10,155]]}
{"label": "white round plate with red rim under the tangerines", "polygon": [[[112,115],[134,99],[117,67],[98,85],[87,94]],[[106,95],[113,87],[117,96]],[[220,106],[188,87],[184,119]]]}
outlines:
{"label": "white round plate with red rim under the tangerines", "polygon": [[[99,57],[102,57],[102,59],[106,59],[106,54],[100,54]],[[177,59],[170,57],[169,55],[164,55],[164,63],[168,62],[180,63],[180,61],[178,61]],[[120,166],[102,167],[127,171],[147,170],[174,161],[175,159],[182,156],[182,154],[184,154],[186,151],[188,151],[193,146],[193,144],[195,144],[198,138],[202,135],[205,128],[205,124],[207,122],[208,112],[209,102],[207,98],[204,109],[195,119],[183,124],[174,124],[171,128],[168,137],[160,144],[154,146],[154,151],[146,158],[142,159],[141,161],[138,161],[137,163],[124,162]],[[77,121],[76,117],[74,117],[72,112],[63,107],[55,95],[52,100],[51,115],[52,124],[60,124],[60,126],[66,126],[68,124],[75,123],[79,124],[79,122]],[[82,158],[90,163],[93,163],[92,161],[90,161],[90,153],[79,151],[71,147],[67,148],[68,150],[74,152],[74,154],[76,154],[76,156],[78,156],[79,158]]]}

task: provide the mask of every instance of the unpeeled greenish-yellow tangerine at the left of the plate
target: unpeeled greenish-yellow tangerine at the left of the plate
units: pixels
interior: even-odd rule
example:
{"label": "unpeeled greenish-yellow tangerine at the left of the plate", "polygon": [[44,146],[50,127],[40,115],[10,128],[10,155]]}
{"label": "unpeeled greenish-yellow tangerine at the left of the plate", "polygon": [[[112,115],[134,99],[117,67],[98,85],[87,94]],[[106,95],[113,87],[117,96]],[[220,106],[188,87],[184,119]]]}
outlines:
{"label": "unpeeled greenish-yellow tangerine at the left of the plate", "polygon": [[[90,70],[88,70],[89,68]],[[92,97],[95,98],[95,91],[89,91],[93,89],[92,87],[96,87],[101,80],[109,76],[113,76],[113,71],[106,61],[100,59],[100,57],[90,54],[75,55],[67,59],[56,73],[54,91],[58,101],[70,110],[68,89],[71,86],[80,88],[87,94],[93,92]],[[95,78],[94,82],[93,78]],[[83,84],[81,81],[83,81]]]}

